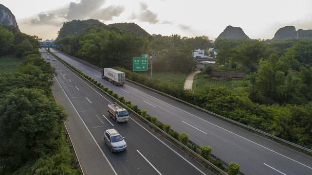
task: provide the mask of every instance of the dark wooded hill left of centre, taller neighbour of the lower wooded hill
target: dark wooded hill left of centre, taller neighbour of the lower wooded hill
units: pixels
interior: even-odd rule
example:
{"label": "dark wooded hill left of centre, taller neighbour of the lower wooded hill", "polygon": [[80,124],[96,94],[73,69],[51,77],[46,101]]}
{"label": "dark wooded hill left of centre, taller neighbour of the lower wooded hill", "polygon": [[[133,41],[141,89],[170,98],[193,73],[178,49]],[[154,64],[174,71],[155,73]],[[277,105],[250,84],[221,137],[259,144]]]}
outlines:
{"label": "dark wooded hill left of centre, taller neighbour of the lower wooded hill", "polygon": [[82,33],[83,29],[92,27],[94,24],[103,27],[106,26],[105,24],[96,19],[72,20],[70,22],[64,22],[63,27],[58,32],[57,38],[79,35]]}

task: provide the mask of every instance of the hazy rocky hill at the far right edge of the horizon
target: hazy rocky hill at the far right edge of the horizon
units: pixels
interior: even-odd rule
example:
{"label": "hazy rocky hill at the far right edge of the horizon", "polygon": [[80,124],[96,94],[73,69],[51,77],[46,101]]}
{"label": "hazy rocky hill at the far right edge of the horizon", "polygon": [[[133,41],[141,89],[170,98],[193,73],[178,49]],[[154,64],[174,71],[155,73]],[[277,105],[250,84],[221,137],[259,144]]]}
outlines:
{"label": "hazy rocky hill at the far right edge of the horizon", "polygon": [[277,30],[274,38],[267,41],[281,41],[287,38],[312,38],[312,30],[302,30],[296,31],[294,26],[285,26]]}

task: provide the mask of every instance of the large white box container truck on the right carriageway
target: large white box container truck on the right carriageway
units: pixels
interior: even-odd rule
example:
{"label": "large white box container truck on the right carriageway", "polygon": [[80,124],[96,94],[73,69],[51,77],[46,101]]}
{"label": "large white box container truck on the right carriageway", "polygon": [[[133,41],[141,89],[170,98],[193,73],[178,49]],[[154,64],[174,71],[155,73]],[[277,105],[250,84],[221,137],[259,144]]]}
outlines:
{"label": "large white box container truck on the right carriageway", "polygon": [[102,78],[110,81],[113,85],[122,86],[126,81],[126,74],[119,70],[114,70],[112,68],[102,69]]}

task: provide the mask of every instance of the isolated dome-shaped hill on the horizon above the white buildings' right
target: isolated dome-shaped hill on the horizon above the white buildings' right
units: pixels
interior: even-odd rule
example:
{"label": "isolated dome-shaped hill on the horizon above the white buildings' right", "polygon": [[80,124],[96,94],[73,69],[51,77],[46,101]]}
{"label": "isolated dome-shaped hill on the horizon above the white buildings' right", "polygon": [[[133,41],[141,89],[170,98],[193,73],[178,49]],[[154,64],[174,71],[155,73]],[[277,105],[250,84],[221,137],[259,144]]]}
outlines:
{"label": "isolated dome-shaped hill on the horizon above the white buildings' right", "polygon": [[240,27],[227,26],[218,38],[227,39],[250,39]]}

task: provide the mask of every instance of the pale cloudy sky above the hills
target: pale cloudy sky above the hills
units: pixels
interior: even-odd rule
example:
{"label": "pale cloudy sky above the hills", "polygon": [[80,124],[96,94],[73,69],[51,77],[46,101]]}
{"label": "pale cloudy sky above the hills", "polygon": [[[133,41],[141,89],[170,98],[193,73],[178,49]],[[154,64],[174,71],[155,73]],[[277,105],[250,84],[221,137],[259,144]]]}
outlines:
{"label": "pale cloudy sky above the hills", "polygon": [[63,22],[134,22],[150,35],[208,36],[231,25],[252,39],[272,39],[285,26],[312,29],[312,0],[0,0],[21,32],[55,39]]}

